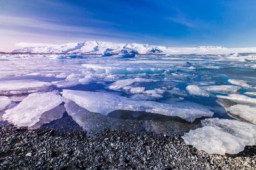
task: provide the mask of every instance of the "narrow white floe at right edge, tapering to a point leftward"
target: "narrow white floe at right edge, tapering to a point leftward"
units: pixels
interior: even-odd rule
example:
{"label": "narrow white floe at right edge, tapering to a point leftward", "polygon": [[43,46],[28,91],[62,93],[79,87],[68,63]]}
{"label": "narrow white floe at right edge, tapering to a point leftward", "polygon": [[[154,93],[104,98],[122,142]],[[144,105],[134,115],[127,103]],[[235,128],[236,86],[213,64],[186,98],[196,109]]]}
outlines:
{"label": "narrow white floe at right edge, tapering to a point leftward", "polygon": [[220,99],[227,99],[233,101],[237,104],[248,104],[251,106],[256,106],[256,99],[244,96],[242,94],[230,94],[228,96],[217,96]]}

